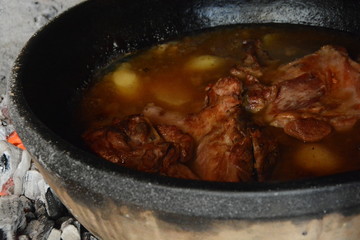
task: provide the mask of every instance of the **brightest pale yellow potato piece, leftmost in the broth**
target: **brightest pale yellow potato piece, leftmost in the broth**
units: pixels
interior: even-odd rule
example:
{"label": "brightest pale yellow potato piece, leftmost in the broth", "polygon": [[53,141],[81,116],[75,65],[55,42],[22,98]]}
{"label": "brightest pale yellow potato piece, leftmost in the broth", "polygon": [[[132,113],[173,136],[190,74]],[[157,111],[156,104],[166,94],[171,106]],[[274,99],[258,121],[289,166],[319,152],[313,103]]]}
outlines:
{"label": "brightest pale yellow potato piece, leftmost in the broth", "polygon": [[140,80],[137,74],[126,65],[121,65],[115,72],[110,74],[119,93],[127,98],[138,96]]}

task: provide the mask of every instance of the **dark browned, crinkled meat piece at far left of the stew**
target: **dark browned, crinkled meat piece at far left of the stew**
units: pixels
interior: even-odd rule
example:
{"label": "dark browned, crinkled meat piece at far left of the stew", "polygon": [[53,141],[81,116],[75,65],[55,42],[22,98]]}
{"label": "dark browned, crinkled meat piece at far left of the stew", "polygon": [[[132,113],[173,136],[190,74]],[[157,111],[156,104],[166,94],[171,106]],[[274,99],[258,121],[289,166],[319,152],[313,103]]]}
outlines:
{"label": "dark browned, crinkled meat piece at far left of the stew", "polygon": [[193,158],[194,140],[169,126],[153,125],[141,115],[83,135],[90,149],[119,165],[139,171],[197,179],[184,162]]}

